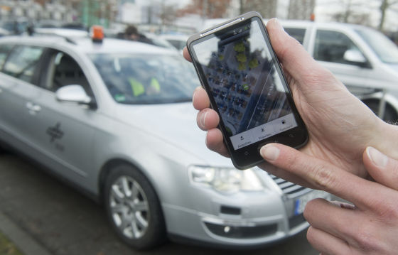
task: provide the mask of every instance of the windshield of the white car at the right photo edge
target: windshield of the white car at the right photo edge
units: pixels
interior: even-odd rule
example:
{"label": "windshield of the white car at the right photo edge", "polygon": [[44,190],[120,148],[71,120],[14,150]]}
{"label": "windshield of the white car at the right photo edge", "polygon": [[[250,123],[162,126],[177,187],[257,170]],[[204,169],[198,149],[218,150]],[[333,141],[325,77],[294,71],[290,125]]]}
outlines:
{"label": "windshield of the white car at the right photo edge", "polygon": [[398,48],[389,38],[371,29],[356,29],[365,42],[384,63],[398,63]]}

